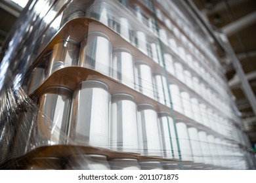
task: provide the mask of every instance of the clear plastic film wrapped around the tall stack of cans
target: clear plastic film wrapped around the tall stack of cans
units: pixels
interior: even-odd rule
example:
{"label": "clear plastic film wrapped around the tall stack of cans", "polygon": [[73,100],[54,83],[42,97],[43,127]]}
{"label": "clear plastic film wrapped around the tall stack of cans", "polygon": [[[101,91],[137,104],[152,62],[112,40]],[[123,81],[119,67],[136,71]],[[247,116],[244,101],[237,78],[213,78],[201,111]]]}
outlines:
{"label": "clear plastic film wrapped around the tall stack of cans", "polygon": [[249,169],[211,59],[148,2],[30,1],[3,45],[2,169]]}

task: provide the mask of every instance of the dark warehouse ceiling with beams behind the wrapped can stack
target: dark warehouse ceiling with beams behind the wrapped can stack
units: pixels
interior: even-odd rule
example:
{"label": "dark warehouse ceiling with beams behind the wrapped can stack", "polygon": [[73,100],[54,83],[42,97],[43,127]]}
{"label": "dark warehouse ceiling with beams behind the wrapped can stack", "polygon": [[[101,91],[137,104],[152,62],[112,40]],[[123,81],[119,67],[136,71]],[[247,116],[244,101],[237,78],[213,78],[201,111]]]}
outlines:
{"label": "dark warehouse ceiling with beams behind the wrapped can stack", "polygon": [[[14,1],[14,0],[13,0]],[[25,1],[25,0],[22,0]],[[191,1],[191,0],[189,0]],[[247,80],[256,93],[256,1],[255,0],[192,0],[213,29],[225,33],[242,64]],[[17,1],[18,2],[18,1]],[[0,45],[11,30],[22,7],[11,0],[0,0]],[[3,54],[1,54],[3,56]],[[224,59],[224,58],[223,58]],[[1,60],[1,57],[0,57]],[[232,65],[223,61],[226,78],[236,97],[236,105],[244,120],[245,129],[256,143],[256,116]]]}

